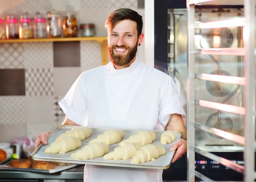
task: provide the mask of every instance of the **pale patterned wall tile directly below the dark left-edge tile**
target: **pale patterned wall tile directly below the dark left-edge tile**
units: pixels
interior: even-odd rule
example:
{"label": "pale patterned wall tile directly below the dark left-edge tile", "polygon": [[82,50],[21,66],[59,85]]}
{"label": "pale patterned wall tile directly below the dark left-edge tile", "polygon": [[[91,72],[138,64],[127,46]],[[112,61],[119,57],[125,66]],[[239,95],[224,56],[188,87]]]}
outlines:
{"label": "pale patterned wall tile directly below the dark left-edge tile", "polygon": [[1,96],[0,103],[0,124],[26,124],[25,96]]}

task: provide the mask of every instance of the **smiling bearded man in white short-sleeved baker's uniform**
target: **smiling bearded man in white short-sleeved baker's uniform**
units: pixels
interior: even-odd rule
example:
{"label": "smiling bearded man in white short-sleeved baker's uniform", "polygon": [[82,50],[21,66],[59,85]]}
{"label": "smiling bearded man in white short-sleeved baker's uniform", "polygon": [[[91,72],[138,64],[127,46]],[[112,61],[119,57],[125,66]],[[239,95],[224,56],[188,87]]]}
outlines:
{"label": "smiling bearded man in white short-sleeved baker's uniform", "polygon": [[[144,34],[142,17],[117,9],[106,20],[110,63],[83,72],[61,102],[65,125],[121,129],[173,130],[183,133],[173,144],[173,162],[186,152],[185,117],[172,78],[139,62],[137,47]],[[35,142],[47,144],[47,133]],[[86,182],[161,182],[162,170],[85,165]]]}

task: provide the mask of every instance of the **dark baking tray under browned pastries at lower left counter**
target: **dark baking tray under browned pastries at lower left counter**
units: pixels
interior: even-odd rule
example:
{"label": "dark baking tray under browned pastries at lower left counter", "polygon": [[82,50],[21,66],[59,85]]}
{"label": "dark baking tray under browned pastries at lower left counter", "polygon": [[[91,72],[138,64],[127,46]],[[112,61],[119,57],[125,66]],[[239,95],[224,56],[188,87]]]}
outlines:
{"label": "dark baking tray under browned pastries at lower left counter", "polygon": [[64,171],[76,166],[79,166],[81,164],[69,164],[69,165],[64,165],[64,166],[57,166],[54,169],[49,169],[49,170],[43,170],[43,169],[32,169],[32,168],[15,168],[9,166],[9,162],[0,165],[0,169],[3,170],[8,170],[8,171],[24,171],[24,172],[36,172],[36,173],[57,173],[60,171]]}

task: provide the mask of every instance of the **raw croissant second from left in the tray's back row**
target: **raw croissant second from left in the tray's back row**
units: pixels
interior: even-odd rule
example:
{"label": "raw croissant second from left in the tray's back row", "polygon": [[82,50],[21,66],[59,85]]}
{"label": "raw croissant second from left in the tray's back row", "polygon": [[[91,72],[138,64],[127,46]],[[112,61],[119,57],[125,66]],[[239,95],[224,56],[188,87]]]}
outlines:
{"label": "raw croissant second from left in the tray's back row", "polygon": [[121,138],[125,136],[124,130],[122,129],[108,129],[97,136],[97,138],[90,140],[89,144],[94,142],[104,142],[108,145],[115,144],[121,141]]}

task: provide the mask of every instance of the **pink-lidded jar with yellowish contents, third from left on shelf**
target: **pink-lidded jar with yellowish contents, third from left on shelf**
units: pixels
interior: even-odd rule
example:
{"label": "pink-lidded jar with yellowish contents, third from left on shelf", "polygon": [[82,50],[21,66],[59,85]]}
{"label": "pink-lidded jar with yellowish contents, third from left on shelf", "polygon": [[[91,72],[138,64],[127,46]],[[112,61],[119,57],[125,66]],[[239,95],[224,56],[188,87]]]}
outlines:
{"label": "pink-lidded jar with yellowish contents, third from left on shelf", "polygon": [[19,38],[33,38],[33,26],[29,13],[24,13],[20,16]]}

